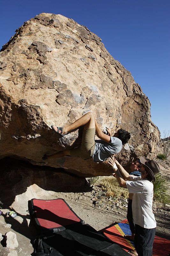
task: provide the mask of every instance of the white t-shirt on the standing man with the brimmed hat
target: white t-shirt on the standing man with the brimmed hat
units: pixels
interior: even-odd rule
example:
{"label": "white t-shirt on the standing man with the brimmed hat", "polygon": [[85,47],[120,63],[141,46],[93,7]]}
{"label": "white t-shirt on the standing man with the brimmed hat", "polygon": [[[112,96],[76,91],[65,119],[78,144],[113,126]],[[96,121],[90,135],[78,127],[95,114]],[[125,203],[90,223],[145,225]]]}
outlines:
{"label": "white t-shirt on the standing man with the brimmed hat", "polygon": [[153,184],[149,180],[141,180],[141,176],[130,175],[132,181],[126,181],[129,193],[133,193],[132,212],[135,224],[143,228],[156,228],[155,216],[152,212]]}

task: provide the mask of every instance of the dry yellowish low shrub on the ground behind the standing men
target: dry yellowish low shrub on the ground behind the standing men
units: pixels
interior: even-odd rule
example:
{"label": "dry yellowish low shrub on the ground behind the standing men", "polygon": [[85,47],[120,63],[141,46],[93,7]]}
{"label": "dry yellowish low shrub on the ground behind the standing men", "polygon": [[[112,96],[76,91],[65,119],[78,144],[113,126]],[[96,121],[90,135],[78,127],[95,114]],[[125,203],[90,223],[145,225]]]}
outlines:
{"label": "dry yellowish low shrub on the ground behind the standing men", "polygon": [[129,192],[127,188],[120,187],[116,178],[107,177],[100,180],[100,185],[106,196],[128,198]]}

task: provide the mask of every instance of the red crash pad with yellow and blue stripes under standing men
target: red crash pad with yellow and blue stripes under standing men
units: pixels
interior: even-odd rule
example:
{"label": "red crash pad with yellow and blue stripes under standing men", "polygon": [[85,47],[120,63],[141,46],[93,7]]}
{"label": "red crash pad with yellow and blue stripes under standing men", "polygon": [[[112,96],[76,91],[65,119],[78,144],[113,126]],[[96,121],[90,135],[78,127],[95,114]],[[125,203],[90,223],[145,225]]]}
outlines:
{"label": "red crash pad with yellow and blue stripes under standing men", "polygon": [[[126,252],[134,250],[134,243],[125,239],[124,235],[131,235],[128,220],[123,220],[118,224],[113,224],[109,228],[102,230],[103,234],[110,240],[119,244]],[[155,236],[153,243],[153,256],[168,256],[170,253],[170,240]]]}

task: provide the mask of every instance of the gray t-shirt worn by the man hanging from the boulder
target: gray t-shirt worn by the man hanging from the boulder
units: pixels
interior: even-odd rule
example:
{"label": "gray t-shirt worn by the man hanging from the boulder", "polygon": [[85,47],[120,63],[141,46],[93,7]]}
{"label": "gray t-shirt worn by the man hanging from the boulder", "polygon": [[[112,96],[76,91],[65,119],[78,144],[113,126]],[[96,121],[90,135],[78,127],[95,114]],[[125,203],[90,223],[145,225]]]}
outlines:
{"label": "gray t-shirt worn by the man hanging from the boulder", "polygon": [[110,137],[111,142],[95,140],[93,160],[95,163],[105,161],[109,156],[117,154],[122,149],[122,141],[117,137]]}

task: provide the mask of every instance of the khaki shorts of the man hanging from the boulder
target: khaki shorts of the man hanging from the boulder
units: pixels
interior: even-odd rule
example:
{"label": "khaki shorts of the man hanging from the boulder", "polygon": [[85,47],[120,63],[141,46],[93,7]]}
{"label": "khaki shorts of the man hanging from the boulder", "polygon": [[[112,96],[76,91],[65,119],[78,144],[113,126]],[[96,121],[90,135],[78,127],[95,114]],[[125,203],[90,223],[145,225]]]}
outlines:
{"label": "khaki shorts of the man hanging from the boulder", "polygon": [[95,149],[95,128],[83,130],[81,146],[70,150],[70,155],[83,159],[91,158]]}

